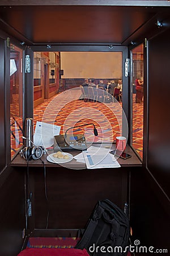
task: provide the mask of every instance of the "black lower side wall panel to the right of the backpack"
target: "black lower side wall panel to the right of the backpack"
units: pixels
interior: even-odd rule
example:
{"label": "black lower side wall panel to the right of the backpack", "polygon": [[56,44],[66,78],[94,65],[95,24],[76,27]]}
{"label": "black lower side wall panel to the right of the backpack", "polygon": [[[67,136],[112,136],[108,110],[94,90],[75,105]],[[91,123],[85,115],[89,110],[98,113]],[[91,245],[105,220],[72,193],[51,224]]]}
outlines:
{"label": "black lower side wall panel to the right of the backpack", "polygon": [[[169,203],[147,170],[131,171],[130,225],[131,237],[140,246],[154,246],[169,251]],[[161,196],[160,196],[161,195]],[[163,203],[164,201],[164,203]],[[138,247],[139,248],[139,247]],[[135,255],[141,255],[136,254]],[[142,255],[148,255],[143,254]]]}

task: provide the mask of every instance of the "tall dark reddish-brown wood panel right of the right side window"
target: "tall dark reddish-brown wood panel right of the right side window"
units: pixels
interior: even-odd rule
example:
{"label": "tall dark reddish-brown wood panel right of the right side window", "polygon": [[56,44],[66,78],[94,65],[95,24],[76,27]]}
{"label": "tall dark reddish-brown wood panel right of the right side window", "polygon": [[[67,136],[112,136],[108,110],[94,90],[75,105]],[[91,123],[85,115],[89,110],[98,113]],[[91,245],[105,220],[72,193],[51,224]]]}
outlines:
{"label": "tall dark reddish-brown wood panel right of the right side window", "polygon": [[[170,30],[149,40],[148,47],[148,169],[170,195],[169,42]],[[161,47],[160,47],[161,46]]]}

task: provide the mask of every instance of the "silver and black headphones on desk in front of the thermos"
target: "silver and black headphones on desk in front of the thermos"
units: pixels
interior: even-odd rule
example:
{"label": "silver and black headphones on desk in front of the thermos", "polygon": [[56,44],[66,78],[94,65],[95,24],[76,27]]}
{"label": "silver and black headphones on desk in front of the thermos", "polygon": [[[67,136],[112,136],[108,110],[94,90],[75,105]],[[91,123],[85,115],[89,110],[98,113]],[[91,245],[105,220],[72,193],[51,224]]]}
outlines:
{"label": "silver and black headphones on desk in front of the thermos", "polygon": [[19,153],[25,160],[37,160],[40,159],[43,154],[46,154],[46,150],[41,146],[24,147]]}

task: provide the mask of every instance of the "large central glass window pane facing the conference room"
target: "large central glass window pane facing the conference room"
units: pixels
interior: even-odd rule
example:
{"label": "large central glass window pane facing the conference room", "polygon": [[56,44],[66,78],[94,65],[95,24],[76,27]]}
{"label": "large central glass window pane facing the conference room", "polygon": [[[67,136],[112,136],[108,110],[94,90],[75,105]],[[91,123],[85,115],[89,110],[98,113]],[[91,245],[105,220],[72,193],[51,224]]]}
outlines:
{"label": "large central glass window pane facing the conference room", "polygon": [[[116,136],[121,135],[122,52],[35,52],[34,54],[35,58],[39,57],[34,67],[34,79],[37,76],[38,62],[41,63],[41,76],[39,75],[41,86],[34,86],[33,91],[35,125],[36,121],[43,121],[46,118],[45,122],[61,126],[60,134],[63,134],[66,119],[70,121],[67,124],[69,127],[75,126],[76,122],[77,125],[95,122],[99,131],[100,129],[105,131],[105,136],[109,136],[110,130],[113,131],[113,140],[116,139]],[[94,80],[92,84],[96,86],[99,84],[99,86],[103,86],[104,92],[107,91],[112,96],[114,87],[118,87],[117,104],[112,104],[109,100],[108,104],[105,105],[96,100],[84,101],[81,98],[80,85],[86,78],[89,82]],[[54,84],[51,84],[52,79],[54,79]],[[79,90],[71,91],[70,102],[67,102],[65,92],[73,88],[79,88]],[[62,93],[63,97],[61,96]],[[74,93],[76,94],[75,98],[79,95],[78,100],[75,100]],[[51,103],[53,105],[50,105]],[[45,116],[49,105],[52,108],[49,108],[50,113]],[[84,108],[87,108],[85,113],[83,112]],[[90,109],[93,109],[97,114],[88,113]],[[82,113],[78,114],[78,110],[82,110]],[[116,114],[114,115],[112,112]],[[101,115],[98,115],[99,113]],[[86,118],[84,114],[87,114]],[[76,132],[86,133],[86,127],[85,129],[82,127]]]}

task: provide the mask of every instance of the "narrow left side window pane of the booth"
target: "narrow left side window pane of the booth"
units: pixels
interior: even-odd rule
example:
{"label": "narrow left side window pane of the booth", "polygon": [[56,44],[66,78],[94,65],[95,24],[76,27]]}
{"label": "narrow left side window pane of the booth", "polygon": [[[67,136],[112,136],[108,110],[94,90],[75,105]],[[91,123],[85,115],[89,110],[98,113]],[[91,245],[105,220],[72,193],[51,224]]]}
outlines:
{"label": "narrow left side window pane of the booth", "polygon": [[11,158],[22,146],[23,139],[23,74],[22,49],[11,44],[10,51],[10,129]]}

